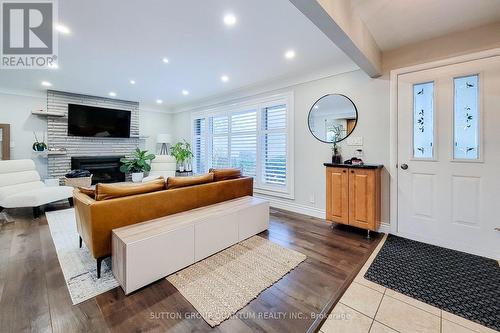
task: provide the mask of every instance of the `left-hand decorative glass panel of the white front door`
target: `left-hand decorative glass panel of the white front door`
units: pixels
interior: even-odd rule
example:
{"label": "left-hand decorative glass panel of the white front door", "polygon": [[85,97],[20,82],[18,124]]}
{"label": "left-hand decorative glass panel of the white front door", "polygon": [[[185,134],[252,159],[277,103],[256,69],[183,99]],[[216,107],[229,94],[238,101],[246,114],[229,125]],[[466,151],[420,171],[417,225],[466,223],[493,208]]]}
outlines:
{"label": "left-hand decorative glass panel of the white front door", "polygon": [[413,157],[434,157],[434,82],[413,85]]}

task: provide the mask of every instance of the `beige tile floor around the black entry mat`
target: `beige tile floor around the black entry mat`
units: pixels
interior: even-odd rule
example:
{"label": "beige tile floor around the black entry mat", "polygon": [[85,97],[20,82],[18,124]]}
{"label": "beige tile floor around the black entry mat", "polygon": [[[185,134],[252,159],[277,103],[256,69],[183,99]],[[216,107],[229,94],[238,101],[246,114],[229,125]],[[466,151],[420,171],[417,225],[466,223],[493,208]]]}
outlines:
{"label": "beige tile floor around the black entry mat", "polygon": [[380,251],[384,241],[385,237],[337,303],[320,328],[320,332],[496,332],[366,280],[364,278],[366,270]]}

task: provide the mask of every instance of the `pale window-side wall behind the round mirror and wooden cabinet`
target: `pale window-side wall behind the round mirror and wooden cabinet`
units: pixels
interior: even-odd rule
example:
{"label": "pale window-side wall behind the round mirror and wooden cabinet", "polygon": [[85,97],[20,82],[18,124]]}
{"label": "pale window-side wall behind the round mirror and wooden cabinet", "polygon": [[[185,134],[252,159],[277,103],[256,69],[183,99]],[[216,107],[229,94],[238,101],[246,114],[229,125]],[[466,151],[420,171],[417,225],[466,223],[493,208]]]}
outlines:
{"label": "pale window-side wall behind the round mirror and wooden cabinet", "polygon": [[[357,148],[364,151],[366,163],[389,165],[389,81],[384,78],[371,79],[362,71],[354,71],[328,78],[269,91],[293,91],[295,101],[295,199],[273,199],[275,206],[290,210],[324,216],[326,206],[324,162],[331,161],[331,145],[316,140],[307,126],[309,109],[318,98],[326,94],[339,93],[351,98],[359,113],[358,124],[352,136],[363,137],[363,147],[347,146],[343,143],[344,159],[353,157]],[[241,92],[237,98],[241,97]],[[235,98],[235,99],[237,99]],[[225,98],[226,100],[227,98]],[[217,102],[212,105],[220,104]],[[193,108],[199,111],[200,108]],[[174,114],[175,135],[190,139],[190,112]],[[311,202],[314,201],[314,202]],[[389,174],[382,174],[382,222],[389,223]]]}

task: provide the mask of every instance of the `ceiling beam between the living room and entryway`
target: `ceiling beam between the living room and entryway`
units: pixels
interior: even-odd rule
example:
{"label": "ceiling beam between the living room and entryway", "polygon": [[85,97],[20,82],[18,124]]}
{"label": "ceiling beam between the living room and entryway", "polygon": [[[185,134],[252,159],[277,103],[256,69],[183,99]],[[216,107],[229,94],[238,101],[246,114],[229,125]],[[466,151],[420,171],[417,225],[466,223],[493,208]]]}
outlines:
{"label": "ceiling beam between the living room and entryway", "polygon": [[382,75],[382,52],[347,0],[289,0],[370,77]]}

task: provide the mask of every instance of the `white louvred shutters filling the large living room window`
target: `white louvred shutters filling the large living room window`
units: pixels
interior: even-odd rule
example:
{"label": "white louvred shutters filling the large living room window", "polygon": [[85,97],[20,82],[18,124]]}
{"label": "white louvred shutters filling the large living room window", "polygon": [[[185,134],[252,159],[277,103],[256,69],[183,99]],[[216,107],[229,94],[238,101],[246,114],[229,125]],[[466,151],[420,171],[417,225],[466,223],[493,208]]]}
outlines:
{"label": "white louvred shutters filling the large living room window", "polygon": [[293,197],[289,107],[293,112],[293,100],[283,94],[200,113],[193,123],[196,172],[238,168],[254,177],[256,192]]}

